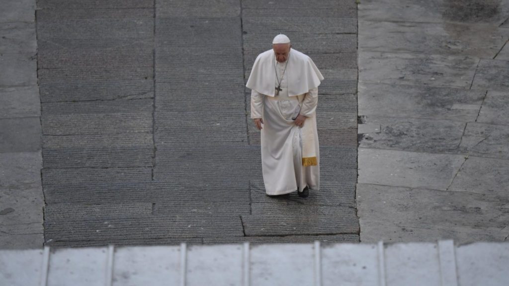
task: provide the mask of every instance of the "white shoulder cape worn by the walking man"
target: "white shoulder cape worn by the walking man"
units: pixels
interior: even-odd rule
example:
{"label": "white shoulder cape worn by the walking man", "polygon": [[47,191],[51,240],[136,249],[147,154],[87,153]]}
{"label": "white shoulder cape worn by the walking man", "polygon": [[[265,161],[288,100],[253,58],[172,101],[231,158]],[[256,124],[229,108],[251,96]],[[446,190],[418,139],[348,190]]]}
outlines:
{"label": "white shoulder cape worn by the walking man", "polygon": [[[246,87],[273,97],[276,89],[274,61],[274,51],[272,49],[259,54],[254,61]],[[323,80],[323,76],[313,60],[294,49],[290,49],[286,74],[288,76],[289,96],[305,94],[309,90],[317,88]]]}

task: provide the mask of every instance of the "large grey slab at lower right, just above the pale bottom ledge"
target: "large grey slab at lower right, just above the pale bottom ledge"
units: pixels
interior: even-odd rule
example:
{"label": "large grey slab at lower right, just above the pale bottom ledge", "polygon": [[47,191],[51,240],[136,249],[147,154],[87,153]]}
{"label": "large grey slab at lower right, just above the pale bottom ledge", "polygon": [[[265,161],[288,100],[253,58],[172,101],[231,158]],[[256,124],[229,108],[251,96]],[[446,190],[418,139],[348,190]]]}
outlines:
{"label": "large grey slab at lower right, just above the pale bottom ledge", "polygon": [[454,239],[502,241],[509,201],[500,196],[357,185],[362,242]]}

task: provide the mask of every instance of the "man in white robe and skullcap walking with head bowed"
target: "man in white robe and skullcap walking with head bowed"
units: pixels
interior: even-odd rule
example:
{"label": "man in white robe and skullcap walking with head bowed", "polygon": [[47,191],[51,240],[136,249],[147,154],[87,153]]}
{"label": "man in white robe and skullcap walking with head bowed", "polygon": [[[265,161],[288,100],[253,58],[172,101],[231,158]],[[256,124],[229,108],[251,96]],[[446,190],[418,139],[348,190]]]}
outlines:
{"label": "man in white robe and skullcap walking with head bowed", "polygon": [[269,196],[320,188],[315,110],[323,76],[309,56],[277,35],[272,49],[258,55],[246,87],[251,118],[261,130],[262,170]]}

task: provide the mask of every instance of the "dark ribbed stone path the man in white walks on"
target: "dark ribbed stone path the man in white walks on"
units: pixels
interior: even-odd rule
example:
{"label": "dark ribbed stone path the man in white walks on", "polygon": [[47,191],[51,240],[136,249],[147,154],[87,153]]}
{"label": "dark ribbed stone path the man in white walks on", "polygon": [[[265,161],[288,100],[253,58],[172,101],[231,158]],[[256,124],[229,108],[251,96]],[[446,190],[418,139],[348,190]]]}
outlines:
{"label": "dark ribbed stone path the man in white walks on", "polygon": [[[38,0],[45,244],[357,242],[356,17],[351,1]],[[249,119],[245,80],[280,32],[326,77],[308,199],[264,195]]]}

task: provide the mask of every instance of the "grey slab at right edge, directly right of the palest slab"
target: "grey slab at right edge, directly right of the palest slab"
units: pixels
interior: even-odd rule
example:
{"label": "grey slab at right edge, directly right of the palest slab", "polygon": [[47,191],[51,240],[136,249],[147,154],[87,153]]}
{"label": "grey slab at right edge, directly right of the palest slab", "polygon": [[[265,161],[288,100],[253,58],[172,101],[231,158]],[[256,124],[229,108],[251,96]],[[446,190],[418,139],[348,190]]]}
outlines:
{"label": "grey slab at right edge, directly right of the palest slab", "polygon": [[509,161],[469,156],[450,185],[450,191],[507,196]]}

